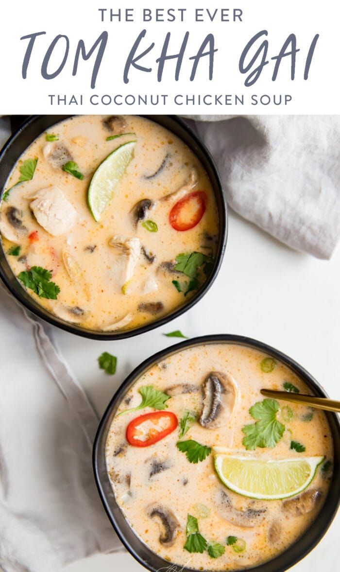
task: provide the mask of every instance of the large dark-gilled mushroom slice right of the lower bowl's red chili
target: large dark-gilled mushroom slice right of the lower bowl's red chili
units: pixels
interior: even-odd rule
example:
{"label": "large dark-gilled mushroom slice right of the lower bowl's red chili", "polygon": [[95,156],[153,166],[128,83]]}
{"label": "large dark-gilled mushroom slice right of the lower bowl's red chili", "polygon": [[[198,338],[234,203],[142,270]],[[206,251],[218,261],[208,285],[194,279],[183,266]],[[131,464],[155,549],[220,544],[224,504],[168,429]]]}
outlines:
{"label": "large dark-gilled mushroom slice right of the lower bowl's red chili", "polygon": [[211,371],[202,384],[203,409],[199,423],[207,429],[224,427],[233,414],[237,386],[229,374]]}

